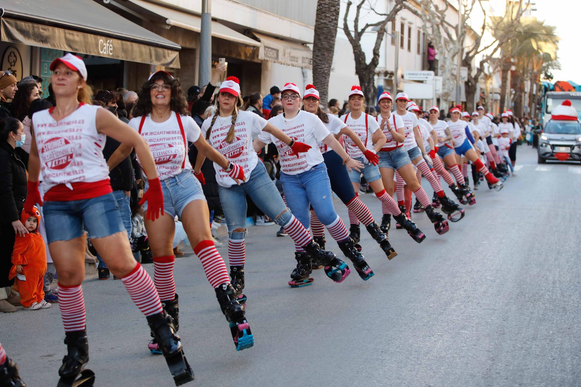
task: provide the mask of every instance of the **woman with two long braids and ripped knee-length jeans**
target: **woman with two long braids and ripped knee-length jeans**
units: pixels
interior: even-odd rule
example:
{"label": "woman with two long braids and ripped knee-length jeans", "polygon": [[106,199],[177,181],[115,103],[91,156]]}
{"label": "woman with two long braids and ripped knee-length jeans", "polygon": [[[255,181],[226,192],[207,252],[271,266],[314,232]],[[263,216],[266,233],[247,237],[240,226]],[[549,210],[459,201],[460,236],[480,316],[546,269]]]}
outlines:
{"label": "woman with two long braids and ripped knee-length jeans", "polygon": [[[241,106],[239,80],[236,77],[228,77],[218,91],[216,113],[202,124],[202,134],[214,149],[244,170],[244,181],[236,184],[222,167],[214,163],[220,203],[228,225],[228,258],[232,285],[234,285],[235,296],[239,303],[244,304],[246,302],[246,296],[242,295],[246,261],[244,240],[248,234],[246,195],[249,195],[254,204],[268,217],[284,227],[295,241],[295,245],[302,250],[301,254],[306,252],[315,261],[331,260],[335,255],[321,250],[311,238],[309,231],[286,208],[264,164],[256,155],[252,141],[253,137],[262,132],[272,134],[288,145],[295,157],[299,157],[299,152],[307,152],[311,147],[288,137],[258,114],[239,110]],[[202,167],[205,159],[202,153],[198,153],[195,170]],[[289,285],[304,286],[304,281],[291,279]]]}

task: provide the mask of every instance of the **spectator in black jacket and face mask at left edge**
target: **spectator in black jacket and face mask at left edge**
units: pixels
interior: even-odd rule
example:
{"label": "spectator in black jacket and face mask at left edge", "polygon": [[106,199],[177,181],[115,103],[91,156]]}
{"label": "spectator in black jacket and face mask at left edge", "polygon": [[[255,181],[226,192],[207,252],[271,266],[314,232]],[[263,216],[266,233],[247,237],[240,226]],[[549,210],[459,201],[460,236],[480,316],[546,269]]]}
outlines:
{"label": "spectator in black jacket and face mask at left edge", "polygon": [[[16,88],[16,82],[13,83]],[[12,85],[11,85],[12,86]],[[5,86],[6,88],[6,86]],[[12,268],[12,249],[16,234],[24,236],[28,230],[20,221],[20,213],[27,195],[27,177],[24,164],[14,149],[26,139],[22,123],[13,117],[0,120],[0,311],[16,311],[20,297],[12,289],[13,279],[8,279]]]}

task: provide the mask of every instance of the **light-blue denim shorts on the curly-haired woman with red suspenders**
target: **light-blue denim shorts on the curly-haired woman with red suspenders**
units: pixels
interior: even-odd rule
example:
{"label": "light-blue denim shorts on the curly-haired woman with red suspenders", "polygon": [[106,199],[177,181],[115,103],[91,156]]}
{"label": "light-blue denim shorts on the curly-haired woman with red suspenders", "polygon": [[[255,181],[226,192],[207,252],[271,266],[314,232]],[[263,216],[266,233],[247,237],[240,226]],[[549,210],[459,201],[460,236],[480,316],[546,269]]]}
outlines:
{"label": "light-blue denim shorts on the curly-haired woman with red suspenders", "polygon": [[[149,189],[149,184],[145,184],[145,190]],[[166,214],[175,217],[180,216],[185,206],[193,200],[204,200],[206,196],[202,191],[202,184],[193,175],[192,170],[187,169],[182,173],[162,180],[163,210]],[[147,210],[147,202],[144,211]]]}

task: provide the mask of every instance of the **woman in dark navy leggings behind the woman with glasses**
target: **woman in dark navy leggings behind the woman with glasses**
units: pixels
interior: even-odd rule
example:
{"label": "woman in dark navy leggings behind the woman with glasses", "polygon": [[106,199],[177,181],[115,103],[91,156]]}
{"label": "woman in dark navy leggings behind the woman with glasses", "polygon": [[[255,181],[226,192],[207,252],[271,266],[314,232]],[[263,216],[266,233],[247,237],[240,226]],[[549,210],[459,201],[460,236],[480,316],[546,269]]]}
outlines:
{"label": "woman in dark navy leggings behind the woman with glasses", "polygon": [[[307,85],[304,93],[302,109],[306,112],[316,114],[331,134],[335,136],[345,135],[346,137],[349,137],[353,144],[357,146],[358,150],[360,150],[360,152],[365,156],[367,161],[376,166],[378,162],[377,154],[372,150],[368,150],[363,142],[361,142],[359,136],[353,132],[345,122],[340,120],[338,117],[333,116],[331,113],[322,112],[321,107],[319,106],[319,92],[315,89],[314,85]],[[349,223],[351,224],[349,229],[350,237],[355,243],[359,242],[359,222],[361,221],[372,238],[379,243],[379,246],[381,246],[383,252],[388,256],[388,259],[392,259],[397,255],[397,253],[388,242],[388,236],[383,234],[383,231],[379,230],[379,225],[375,223],[370,210],[363,202],[361,202],[357,193],[353,189],[353,185],[350,184],[351,180],[349,178],[349,173],[347,173],[347,169],[343,167],[341,158],[334,150],[329,149],[329,147],[322,142],[318,145],[323,154],[323,159],[325,160],[327,174],[331,181],[331,189],[337,196],[339,196],[339,199],[341,199],[343,204],[347,206],[349,211]],[[388,196],[388,199],[391,199],[391,208],[397,209],[396,202],[393,198]],[[317,214],[315,214],[312,209],[311,230],[313,230],[315,241],[319,244],[323,243],[324,245],[325,229],[318,220]],[[356,246],[360,249],[360,246]]]}

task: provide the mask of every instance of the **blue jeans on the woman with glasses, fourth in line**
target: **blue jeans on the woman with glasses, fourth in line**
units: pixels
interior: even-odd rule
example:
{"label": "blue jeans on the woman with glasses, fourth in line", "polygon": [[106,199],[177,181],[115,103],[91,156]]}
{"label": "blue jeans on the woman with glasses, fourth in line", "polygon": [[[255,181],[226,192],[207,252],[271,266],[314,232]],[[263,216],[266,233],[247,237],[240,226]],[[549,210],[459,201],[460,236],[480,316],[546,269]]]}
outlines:
{"label": "blue jeans on the woman with glasses, fourth in line", "polygon": [[309,228],[311,223],[309,203],[322,224],[328,225],[337,219],[333,207],[331,182],[324,163],[297,175],[281,172],[281,181],[285,190],[286,204],[304,228]]}

